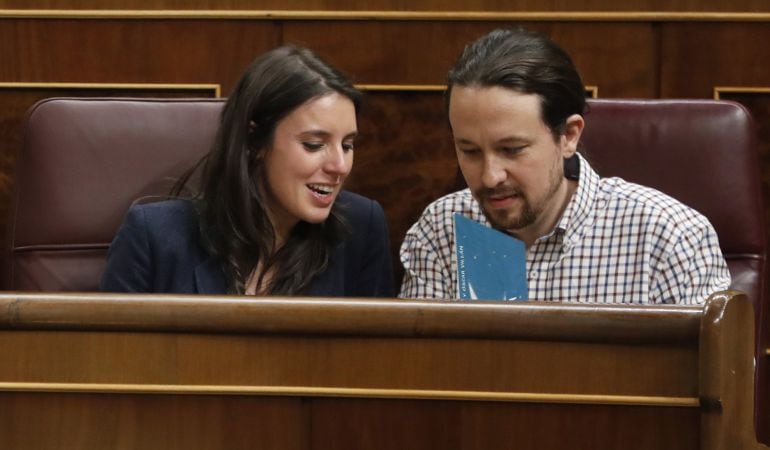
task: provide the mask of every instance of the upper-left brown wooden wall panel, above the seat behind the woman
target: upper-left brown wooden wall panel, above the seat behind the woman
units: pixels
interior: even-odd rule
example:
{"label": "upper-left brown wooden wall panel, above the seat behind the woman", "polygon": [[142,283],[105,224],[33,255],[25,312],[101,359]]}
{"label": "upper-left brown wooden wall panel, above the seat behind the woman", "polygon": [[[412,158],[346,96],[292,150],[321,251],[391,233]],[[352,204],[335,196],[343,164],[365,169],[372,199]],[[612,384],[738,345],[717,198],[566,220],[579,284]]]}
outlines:
{"label": "upper-left brown wooden wall panel, above the seat behind the woman", "polygon": [[275,24],[238,20],[0,20],[0,82],[220,83],[227,94]]}

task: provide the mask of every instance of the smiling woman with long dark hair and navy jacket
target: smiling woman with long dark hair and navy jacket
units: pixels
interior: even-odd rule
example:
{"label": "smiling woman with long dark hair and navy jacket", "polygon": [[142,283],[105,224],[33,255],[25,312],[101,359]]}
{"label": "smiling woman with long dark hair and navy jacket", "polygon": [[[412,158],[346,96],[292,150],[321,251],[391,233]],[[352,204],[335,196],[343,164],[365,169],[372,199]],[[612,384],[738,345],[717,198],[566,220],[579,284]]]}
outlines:
{"label": "smiling woman with long dark hair and navy jacket", "polygon": [[360,98],[310,50],[258,57],[222,111],[200,193],[133,206],[101,289],[393,296],[382,208],[342,190]]}

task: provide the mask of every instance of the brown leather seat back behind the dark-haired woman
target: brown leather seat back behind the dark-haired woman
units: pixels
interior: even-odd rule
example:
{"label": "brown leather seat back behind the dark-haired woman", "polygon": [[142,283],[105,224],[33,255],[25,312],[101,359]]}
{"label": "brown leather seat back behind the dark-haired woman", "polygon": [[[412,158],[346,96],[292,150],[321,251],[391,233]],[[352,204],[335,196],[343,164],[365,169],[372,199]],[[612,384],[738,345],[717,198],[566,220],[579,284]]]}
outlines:
{"label": "brown leather seat back behind the dark-haired woman", "polygon": [[130,204],[165,195],[213,142],[222,100],[46,99],[27,113],[3,281],[96,291]]}

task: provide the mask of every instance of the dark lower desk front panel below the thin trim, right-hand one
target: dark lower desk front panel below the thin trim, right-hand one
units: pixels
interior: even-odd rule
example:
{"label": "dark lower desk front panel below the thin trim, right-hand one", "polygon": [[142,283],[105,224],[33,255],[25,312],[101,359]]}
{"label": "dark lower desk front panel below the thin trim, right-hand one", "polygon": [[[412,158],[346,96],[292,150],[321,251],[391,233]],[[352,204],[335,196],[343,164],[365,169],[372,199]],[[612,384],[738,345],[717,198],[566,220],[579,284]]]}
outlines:
{"label": "dark lower desk front panel below the thin trim, right-hand one", "polygon": [[319,399],[312,448],[687,450],[699,448],[699,417],[697,408]]}

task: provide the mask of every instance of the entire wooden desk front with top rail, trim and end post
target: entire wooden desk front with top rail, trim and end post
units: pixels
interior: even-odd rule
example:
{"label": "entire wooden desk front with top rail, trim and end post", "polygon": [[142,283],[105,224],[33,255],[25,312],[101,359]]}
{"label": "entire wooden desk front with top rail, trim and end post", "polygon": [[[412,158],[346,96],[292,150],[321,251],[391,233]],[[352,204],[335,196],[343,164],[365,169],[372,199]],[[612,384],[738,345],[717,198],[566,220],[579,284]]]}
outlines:
{"label": "entire wooden desk front with top rail, trim and end post", "polygon": [[762,448],[752,312],[0,294],[0,449]]}

